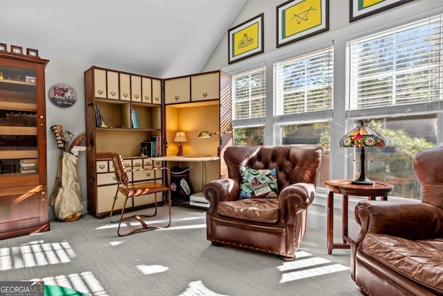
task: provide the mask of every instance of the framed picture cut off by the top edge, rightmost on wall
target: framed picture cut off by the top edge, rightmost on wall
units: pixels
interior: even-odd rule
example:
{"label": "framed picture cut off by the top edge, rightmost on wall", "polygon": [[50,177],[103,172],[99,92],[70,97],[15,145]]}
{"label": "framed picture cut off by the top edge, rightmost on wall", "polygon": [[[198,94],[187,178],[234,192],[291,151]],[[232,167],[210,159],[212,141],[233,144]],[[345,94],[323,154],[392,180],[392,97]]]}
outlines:
{"label": "framed picture cut off by the top edge, rightmost on wall", "polygon": [[349,21],[356,21],[413,0],[349,0]]}

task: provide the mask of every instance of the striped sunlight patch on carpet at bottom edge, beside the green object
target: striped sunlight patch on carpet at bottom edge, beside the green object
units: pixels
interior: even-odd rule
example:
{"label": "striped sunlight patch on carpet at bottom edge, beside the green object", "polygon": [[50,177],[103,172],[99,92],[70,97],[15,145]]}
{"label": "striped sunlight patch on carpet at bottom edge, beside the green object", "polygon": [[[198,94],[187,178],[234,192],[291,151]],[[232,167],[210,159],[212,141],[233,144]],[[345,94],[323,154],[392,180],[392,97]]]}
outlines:
{"label": "striped sunlight patch on carpet at bottom edge, beside the green object", "polygon": [[30,279],[29,281],[44,281],[46,285],[62,286],[77,290],[88,295],[108,296],[109,294],[98,282],[92,272],[73,273],[71,275],[57,275],[55,277],[43,277]]}

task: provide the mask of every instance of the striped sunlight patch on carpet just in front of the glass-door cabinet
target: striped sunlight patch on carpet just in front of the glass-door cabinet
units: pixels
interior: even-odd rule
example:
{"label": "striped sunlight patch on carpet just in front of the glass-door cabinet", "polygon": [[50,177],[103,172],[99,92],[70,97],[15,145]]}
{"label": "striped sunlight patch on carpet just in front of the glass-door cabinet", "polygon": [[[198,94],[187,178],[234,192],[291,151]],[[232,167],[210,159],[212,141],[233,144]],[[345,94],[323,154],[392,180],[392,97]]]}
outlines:
{"label": "striped sunlight patch on carpet just in front of the glass-door cabinet", "polygon": [[45,243],[31,241],[17,247],[0,248],[0,270],[69,263],[76,257],[67,241]]}

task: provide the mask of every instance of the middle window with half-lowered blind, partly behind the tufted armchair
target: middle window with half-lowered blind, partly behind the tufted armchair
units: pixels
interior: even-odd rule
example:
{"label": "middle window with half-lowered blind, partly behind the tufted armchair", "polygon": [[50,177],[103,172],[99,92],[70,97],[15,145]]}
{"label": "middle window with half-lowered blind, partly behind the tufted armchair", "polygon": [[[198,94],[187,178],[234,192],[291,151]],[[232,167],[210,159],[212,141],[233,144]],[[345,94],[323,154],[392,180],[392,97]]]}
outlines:
{"label": "middle window with half-lowered blind, partly behind the tufted armchair", "polygon": [[333,66],[332,47],[274,65],[277,143],[323,147],[317,187],[329,179],[329,122],[325,121],[332,119]]}

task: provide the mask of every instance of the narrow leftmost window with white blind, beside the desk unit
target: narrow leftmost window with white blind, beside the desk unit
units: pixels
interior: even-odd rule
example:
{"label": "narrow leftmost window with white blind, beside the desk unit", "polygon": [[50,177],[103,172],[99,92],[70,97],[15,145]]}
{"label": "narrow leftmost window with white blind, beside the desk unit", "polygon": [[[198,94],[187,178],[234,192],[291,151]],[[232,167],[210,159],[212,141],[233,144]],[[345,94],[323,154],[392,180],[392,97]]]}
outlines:
{"label": "narrow leftmost window with white blind, beside the desk unit", "polygon": [[265,67],[232,76],[233,130],[236,145],[263,145],[266,115]]}

